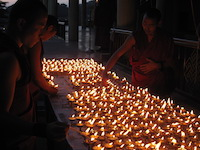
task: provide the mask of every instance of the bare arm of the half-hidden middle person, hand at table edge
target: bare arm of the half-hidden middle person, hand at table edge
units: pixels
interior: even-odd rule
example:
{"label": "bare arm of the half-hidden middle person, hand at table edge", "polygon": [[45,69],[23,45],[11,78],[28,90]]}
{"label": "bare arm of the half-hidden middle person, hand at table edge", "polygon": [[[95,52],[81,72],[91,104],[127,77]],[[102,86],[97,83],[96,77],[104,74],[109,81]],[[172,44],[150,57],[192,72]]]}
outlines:
{"label": "bare arm of the half-hidden middle person, hand at table edge", "polygon": [[41,42],[38,42],[32,49],[30,49],[29,54],[34,83],[49,94],[56,94],[58,90],[52,87],[42,75],[40,64]]}

